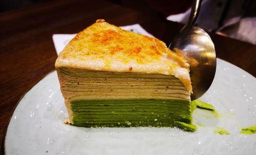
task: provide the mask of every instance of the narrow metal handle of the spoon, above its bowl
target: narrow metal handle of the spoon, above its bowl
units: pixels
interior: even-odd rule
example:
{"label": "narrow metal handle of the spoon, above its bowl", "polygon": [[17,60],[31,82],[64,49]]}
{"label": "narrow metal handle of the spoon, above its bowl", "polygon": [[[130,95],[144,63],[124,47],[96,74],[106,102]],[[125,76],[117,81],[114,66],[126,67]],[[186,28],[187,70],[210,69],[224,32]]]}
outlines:
{"label": "narrow metal handle of the spoon, above its bowl", "polygon": [[197,17],[198,17],[199,11],[200,11],[201,2],[202,2],[202,0],[194,0],[193,1],[190,16],[187,20],[186,25],[187,24],[193,25],[195,23],[195,21],[197,20]]}

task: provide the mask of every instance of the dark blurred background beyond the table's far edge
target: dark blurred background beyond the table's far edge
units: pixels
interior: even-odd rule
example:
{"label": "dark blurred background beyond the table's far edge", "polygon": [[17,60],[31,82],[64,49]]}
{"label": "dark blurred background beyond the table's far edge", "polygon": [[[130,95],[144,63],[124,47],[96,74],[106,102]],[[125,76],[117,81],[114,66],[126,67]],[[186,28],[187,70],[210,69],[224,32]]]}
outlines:
{"label": "dark blurred background beyond the table's far edge", "polygon": [[[55,0],[1,0],[0,12]],[[157,12],[167,20],[185,23],[192,0],[105,0],[141,12]],[[95,10],[97,11],[97,10]],[[256,0],[203,0],[195,23],[205,31],[256,44]]]}

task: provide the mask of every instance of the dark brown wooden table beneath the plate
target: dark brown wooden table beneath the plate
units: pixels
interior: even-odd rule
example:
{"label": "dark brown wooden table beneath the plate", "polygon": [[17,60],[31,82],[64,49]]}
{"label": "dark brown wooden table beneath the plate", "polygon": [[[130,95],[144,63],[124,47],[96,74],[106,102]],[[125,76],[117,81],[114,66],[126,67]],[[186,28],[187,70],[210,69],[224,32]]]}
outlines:
{"label": "dark brown wooden table beneath the plate", "polygon": [[[156,12],[142,13],[105,1],[52,1],[0,14],[0,142],[18,100],[47,73],[57,58],[53,34],[77,33],[96,19],[121,26],[140,23],[166,44],[182,24]],[[210,34],[217,57],[256,76],[256,45]],[[3,151],[3,146],[1,147]]]}

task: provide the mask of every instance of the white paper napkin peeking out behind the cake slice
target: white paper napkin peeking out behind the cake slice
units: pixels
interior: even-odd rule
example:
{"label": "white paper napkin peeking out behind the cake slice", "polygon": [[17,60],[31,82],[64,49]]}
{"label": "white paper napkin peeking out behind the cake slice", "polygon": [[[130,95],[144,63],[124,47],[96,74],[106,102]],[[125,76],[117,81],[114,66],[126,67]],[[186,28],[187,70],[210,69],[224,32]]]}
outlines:
{"label": "white paper napkin peeking out behind the cake slice", "polygon": [[[120,27],[123,30],[126,31],[132,31],[138,34],[154,37],[152,34],[146,32],[140,24],[136,23],[133,25],[127,25],[124,27]],[[60,51],[63,50],[63,48],[69,43],[71,39],[73,39],[76,36],[76,34],[54,34],[52,36],[52,40],[56,49],[57,55],[59,55]]]}

